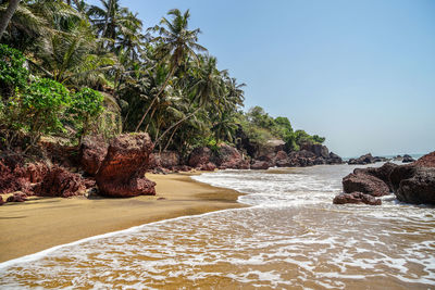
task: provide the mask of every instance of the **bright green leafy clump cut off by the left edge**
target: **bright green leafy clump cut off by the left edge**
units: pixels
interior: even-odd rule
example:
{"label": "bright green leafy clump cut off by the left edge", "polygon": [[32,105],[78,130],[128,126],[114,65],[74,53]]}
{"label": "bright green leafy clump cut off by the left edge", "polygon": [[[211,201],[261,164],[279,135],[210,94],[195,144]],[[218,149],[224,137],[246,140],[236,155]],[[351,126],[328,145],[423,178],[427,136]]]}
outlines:
{"label": "bright green leafy clump cut off by the left edge", "polygon": [[28,79],[25,58],[16,49],[0,45],[0,96],[8,98],[15,89],[23,89]]}

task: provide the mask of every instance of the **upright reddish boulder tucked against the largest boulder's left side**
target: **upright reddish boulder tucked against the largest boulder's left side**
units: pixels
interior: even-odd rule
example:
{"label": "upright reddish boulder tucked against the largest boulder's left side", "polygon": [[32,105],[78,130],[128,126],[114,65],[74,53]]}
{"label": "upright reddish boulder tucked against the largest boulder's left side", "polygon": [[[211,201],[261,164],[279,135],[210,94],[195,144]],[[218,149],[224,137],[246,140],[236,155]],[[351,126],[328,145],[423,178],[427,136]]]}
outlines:
{"label": "upright reddish boulder tucked against the largest boulder's left side", "polygon": [[108,144],[99,136],[86,136],[80,146],[80,165],[85,173],[95,176],[108,153]]}

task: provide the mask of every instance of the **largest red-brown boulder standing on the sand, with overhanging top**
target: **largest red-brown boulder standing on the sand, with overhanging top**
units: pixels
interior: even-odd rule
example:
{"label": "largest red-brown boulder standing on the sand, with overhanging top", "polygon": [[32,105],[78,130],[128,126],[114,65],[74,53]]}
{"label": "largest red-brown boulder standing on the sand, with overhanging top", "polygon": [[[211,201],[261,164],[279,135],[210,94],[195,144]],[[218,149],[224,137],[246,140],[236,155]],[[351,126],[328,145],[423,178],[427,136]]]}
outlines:
{"label": "largest red-brown boulder standing on the sand, with overhanging top", "polygon": [[100,193],[114,198],[156,194],[156,182],[145,177],[152,149],[146,133],[113,138],[96,175]]}

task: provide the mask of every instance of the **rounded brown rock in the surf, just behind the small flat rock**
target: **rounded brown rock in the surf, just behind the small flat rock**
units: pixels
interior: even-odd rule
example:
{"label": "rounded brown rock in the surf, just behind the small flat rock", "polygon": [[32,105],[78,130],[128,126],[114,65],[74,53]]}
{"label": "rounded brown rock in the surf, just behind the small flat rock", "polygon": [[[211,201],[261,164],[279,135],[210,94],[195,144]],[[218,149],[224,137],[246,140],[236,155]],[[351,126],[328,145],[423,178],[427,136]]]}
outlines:
{"label": "rounded brown rock in the surf, just behind the small flat rock", "polygon": [[343,189],[346,193],[359,191],[373,197],[389,194],[388,186],[377,177],[368,174],[349,174],[343,178]]}

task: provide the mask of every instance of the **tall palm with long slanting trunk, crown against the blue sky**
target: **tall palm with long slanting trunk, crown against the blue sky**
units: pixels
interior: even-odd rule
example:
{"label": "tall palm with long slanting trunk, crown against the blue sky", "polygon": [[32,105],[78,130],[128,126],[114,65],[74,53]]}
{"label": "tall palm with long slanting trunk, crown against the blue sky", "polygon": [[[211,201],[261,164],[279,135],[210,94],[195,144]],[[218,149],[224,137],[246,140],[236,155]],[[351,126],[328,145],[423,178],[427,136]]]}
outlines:
{"label": "tall palm with long slanting trunk, crown against the blue sky", "polygon": [[160,35],[160,37],[154,39],[154,41],[159,43],[157,47],[157,56],[161,60],[169,59],[171,70],[164,84],[152,99],[139,124],[137,124],[136,131],[140,128],[151,106],[163,92],[167,83],[174,76],[176,70],[183,64],[183,62],[185,62],[186,59],[197,59],[197,51],[207,50],[204,47],[197,43],[200,29],[188,29],[188,21],[190,17],[189,10],[182,14],[178,9],[173,9],[167,12],[167,15],[172,16],[172,21],[163,17],[160,22],[161,26],[153,27],[153,30]]}

